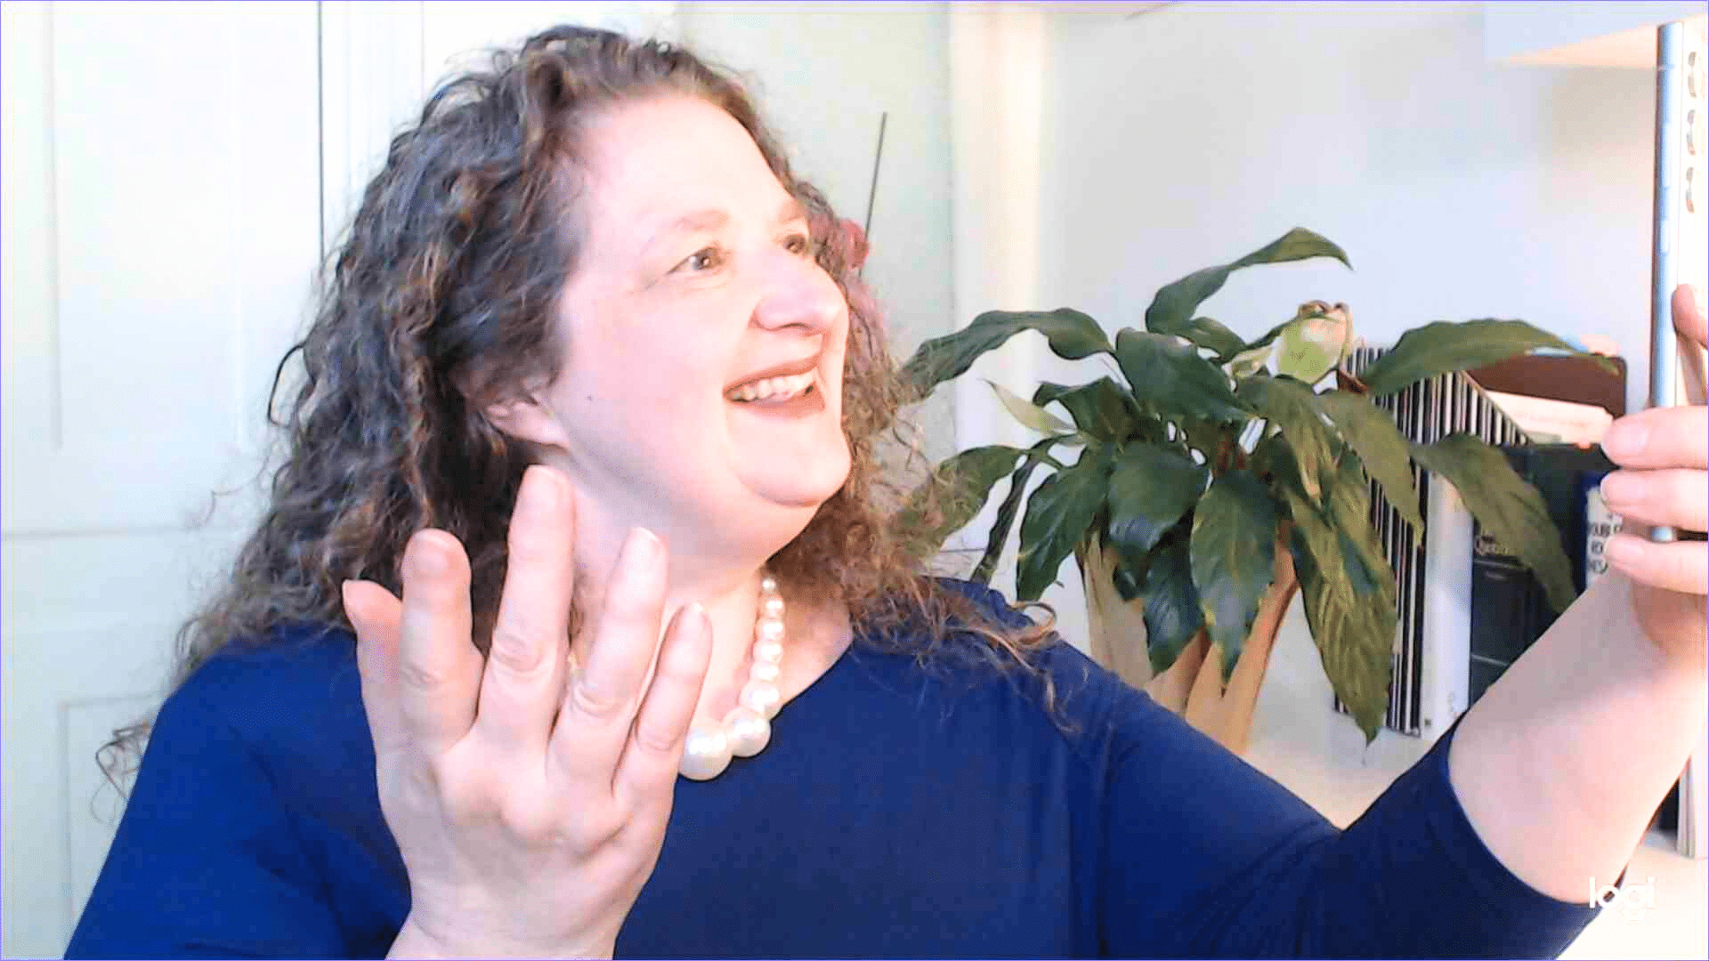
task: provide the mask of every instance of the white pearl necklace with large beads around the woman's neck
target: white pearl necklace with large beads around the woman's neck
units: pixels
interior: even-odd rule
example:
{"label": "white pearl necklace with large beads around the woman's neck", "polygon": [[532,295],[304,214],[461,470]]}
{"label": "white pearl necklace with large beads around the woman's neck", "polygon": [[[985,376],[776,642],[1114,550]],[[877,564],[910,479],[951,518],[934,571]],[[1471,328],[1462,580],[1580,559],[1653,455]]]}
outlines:
{"label": "white pearl necklace with large beads around the woman's neck", "polygon": [[730,758],[752,758],[771,742],[771,718],[783,706],[783,597],[778,580],[762,575],[759,581],[759,619],[754,622],[754,650],[749,681],[737,694],[723,722],[696,722],[682,747],[682,776],[709,781],[730,766]]}

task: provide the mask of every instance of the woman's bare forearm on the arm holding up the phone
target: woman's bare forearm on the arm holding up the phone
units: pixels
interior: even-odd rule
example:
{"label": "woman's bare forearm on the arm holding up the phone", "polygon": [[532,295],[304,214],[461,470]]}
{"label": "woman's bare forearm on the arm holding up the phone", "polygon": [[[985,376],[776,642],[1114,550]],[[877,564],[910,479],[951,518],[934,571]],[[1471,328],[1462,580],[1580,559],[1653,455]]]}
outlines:
{"label": "woman's bare forearm on the arm holding up the phone", "polygon": [[1449,780],[1490,852],[1564,901],[1612,882],[1704,725],[1702,646],[1658,648],[1600,578],[1459,722]]}

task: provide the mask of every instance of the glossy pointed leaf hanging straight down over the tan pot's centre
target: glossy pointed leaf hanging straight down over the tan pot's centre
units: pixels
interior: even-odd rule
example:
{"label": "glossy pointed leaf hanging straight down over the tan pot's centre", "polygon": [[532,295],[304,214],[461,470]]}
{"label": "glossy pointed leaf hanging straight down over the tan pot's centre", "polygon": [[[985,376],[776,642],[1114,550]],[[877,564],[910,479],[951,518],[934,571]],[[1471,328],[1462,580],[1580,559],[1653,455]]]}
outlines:
{"label": "glossy pointed leaf hanging straight down over the tan pot's centre", "polygon": [[1275,503],[1249,470],[1217,477],[1193,511],[1193,587],[1205,629],[1222,646],[1225,684],[1275,580]]}

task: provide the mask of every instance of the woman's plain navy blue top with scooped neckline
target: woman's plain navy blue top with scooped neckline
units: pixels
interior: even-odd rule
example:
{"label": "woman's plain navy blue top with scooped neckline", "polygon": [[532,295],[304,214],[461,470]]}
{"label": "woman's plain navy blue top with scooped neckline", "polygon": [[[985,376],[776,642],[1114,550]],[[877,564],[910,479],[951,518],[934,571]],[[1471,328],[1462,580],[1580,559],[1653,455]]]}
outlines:
{"label": "woman's plain navy blue top with scooped neckline", "polygon": [[[678,778],[617,954],[1543,958],[1596,917],[1477,836],[1458,723],[1338,829],[1070,645],[957,638],[856,631],[766,751]],[[162,705],[67,956],[379,958],[408,908],[354,640],[285,631]]]}

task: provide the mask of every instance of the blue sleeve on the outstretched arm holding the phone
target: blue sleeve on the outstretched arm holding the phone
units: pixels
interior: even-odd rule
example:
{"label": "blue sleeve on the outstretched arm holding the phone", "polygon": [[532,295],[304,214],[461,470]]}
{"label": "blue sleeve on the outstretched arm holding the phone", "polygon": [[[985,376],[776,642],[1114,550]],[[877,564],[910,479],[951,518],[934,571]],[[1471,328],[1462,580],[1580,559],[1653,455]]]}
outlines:
{"label": "blue sleeve on the outstretched arm holding the phone", "polygon": [[1104,812],[1107,954],[1553,958],[1596,917],[1478,838],[1448,780],[1458,720],[1345,831],[1143,693],[1123,723],[1136,728]]}

